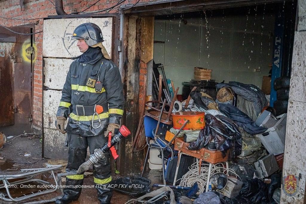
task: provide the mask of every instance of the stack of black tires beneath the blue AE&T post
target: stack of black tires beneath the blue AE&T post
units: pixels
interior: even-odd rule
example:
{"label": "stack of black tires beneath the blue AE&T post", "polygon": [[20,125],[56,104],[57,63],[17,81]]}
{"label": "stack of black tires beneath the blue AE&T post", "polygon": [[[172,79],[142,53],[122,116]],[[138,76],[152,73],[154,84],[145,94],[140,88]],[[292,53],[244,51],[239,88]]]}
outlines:
{"label": "stack of black tires beneath the blue AE&T post", "polygon": [[276,98],[273,107],[276,115],[287,112],[289,99],[290,77],[279,77],[274,81],[274,89],[276,90]]}

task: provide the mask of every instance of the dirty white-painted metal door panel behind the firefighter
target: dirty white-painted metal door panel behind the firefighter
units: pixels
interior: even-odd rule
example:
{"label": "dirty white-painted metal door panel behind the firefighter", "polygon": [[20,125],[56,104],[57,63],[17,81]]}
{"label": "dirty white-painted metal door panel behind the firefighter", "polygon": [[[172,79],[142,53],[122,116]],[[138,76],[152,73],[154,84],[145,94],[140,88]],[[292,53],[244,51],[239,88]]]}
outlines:
{"label": "dirty white-painted metal door panel behind the firefighter", "polygon": [[67,147],[64,146],[66,134],[55,129],[58,105],[62,97],[71,57],[82,53],[71,40],[74,29],[82,23],[95,23],[103,34],[103,45],[111,56],[113,18],[63,18],[47,19],[43,22],[43,143],[44,157],[66,158]]}

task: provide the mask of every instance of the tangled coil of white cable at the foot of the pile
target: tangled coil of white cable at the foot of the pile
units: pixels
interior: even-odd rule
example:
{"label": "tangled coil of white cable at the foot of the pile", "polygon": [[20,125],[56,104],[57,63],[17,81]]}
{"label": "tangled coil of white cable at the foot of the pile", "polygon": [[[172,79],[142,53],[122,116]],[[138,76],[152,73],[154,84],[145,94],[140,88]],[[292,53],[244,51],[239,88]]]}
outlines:
{"label": "tangled coil of white cable at the foot of the pile", "polygon": [[[218,163],[218,164],[212,164],[211,168],[211,176],[215,173],[228,173],[231,172],[234,176],[241,180],[241,178],[236,174],[236,172],[231,168],[224,167],[224,163]],[[209,169],[209,163],[205,162],[201,165],[201,171],[199,174],[199,164],[198,162],[195,162],[189,167],[189,171],[178,180],[181,180],[180,186],[182,187],[192,187],[192,185],[197,182],[199,186],[199,191],[196,193],[197,195],[200,195],[206,190],[206,183],[207,183],[207,176],[208,176],[208,169]],[[218,190],[217,190],[218,191]],[[219,191],[218,191],[219,192]]]}

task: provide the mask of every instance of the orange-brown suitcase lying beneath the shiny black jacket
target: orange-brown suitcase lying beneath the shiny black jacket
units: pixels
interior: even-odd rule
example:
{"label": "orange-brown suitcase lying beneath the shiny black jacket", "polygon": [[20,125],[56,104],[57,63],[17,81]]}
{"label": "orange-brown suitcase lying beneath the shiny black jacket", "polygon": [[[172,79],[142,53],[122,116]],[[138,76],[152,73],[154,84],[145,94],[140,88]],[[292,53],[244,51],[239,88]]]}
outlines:
{"label": "orange-brown suitcase lying beneath the shiny black jacket", "polygon": [[228,160],[228,151],[226,153],[226,156],[223,157],[221,151],[219,150],[208,150],[205,148],[202,148],[200,150],[189,150],[187,148],[188,146],[189,143],[183,142],[175,138],[174,150],[178,150],[179,153],[182,152],[192,157],[196,157],[200,160],[209,162],[211,164],[217,164],[219,162],[225,162]]}

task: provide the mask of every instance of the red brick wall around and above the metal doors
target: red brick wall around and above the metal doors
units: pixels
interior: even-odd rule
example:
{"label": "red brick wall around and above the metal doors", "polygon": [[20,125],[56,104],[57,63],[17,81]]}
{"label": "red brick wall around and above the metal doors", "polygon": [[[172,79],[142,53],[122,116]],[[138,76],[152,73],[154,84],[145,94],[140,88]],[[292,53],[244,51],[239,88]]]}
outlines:
{"label": "red brick wall around and above the metal doors", "polygon": [[[136,3],[138,0],[127,0],[121,5],[131,5]],[[153,2],[156,0],[140,0],[139,3],[144,2]],[[73,12],[82,11],[89,6],[93,5],[96,0],[84,1],[84,0],[64,0],[63,6],[66,13],[70,14]],[[118,3],[118,0],[101,0],[96,3],[94,6],[90,7],[86,11],[95,11],[99,9],[109,8]],[[5,19],[0,17],[0,25],[7,27],[25,25],[29,23],[35,23],[35,32],[43,30],[43,18],[49,15],[57,15],[55,11],[55,6],[53,5],[54,0],[24,0],[24,5],[22,9],[20,8],[19,1],[11,0],[0,0],[0,8],[2,14],[0,16],[7,18],[19,18],[19,19],[32,19],[32,20],[17,20],[17,19]],[[116,13],[119,11],[119,7],[115,7],[110,10],[110,13]],[[105,12],[102,12],[105,13]],[[34,62],[34,93],[33,93],[33,131],[41,131],[42,123],[42,43],[43,43],[43,33],[35,34],[35,46],[36,51],[36,60]],[[143,82],[144,75],[147,73],[147,65],[142,64],[140,70],[140,93],[143,93]],[[140,96],[142,99],[142,96]],[[141,104],[140,100],[140,104]],[[140,107],[141,108],[141,107]]]}

